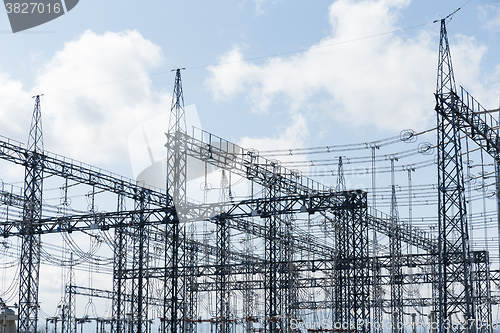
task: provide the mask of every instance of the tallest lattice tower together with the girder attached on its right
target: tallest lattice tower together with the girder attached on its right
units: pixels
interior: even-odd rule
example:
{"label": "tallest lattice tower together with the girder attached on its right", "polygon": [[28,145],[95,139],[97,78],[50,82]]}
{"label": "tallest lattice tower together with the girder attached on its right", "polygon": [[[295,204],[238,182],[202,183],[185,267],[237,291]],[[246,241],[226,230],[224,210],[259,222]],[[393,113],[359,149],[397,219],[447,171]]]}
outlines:
{"label": "tallest lattice tower together with the girder attached on its right", "polygon": [[[472,255],[464,196],[460,132],[465,133],[496,160],[499,156],[498,122],[461,88],[457,94],[446,32],[441,38],[436,88],[438,116],[439,252],[435,304],[440,331],[446,322],[473,322],[491,328],[487,254]],[[498,174],[498,172],[497,172]],[[498,182],[497,182],[498,187]]]}

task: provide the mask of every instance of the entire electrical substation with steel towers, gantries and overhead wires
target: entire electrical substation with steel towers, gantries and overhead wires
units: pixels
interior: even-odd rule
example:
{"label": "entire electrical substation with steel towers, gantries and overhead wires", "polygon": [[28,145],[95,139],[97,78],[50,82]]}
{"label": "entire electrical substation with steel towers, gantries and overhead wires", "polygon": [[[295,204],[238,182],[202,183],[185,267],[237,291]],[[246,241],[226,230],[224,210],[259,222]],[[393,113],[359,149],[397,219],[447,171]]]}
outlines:
{"label": "entire electrical substation with steel towers, gantries and overhead wires", "polygon": [[27,145],[0,137],[24,170],[0,188],[2,332],[492,333],[499,109],[456,86],[440,23],[436,126],[372,142],[259,152],[187,128],[175,70],[164,189],[44,150],[35,96]]}

